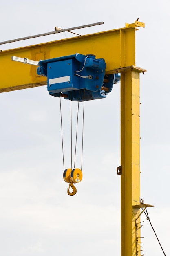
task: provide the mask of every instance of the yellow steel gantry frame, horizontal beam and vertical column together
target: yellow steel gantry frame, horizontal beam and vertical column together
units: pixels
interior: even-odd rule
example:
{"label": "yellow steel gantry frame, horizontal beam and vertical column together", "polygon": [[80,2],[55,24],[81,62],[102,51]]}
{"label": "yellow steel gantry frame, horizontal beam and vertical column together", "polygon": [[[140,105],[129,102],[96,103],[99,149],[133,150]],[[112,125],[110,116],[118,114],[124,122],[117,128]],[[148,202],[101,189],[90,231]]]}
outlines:
{"label": "yellow steel gantry frame, horizontal beam and vertical column together", "polygon": [[[144,27],[144,23],[136,20],[121,29],[0,52],[0,92],[46,85],[46,77],[39,76],[34,66],[16,65],[11,56],[38,62],[91,53],[104,58],[106,75],[121,73],[121,166],[117,167],[121,177],[121,256],[141,256],[140,216],[151,206],[140,199],[139,76],[146,70],[135,65],[137,27]],[[9,70],[12,79],[7,79]]]}

